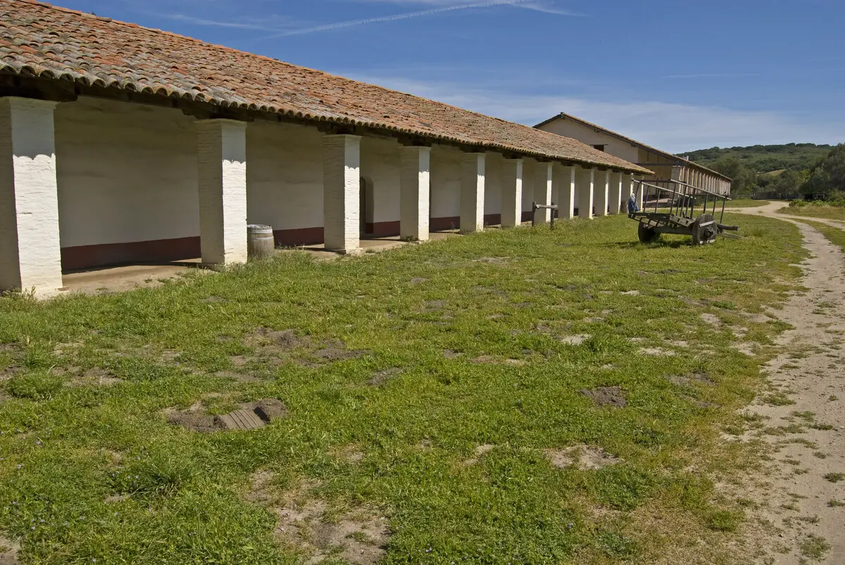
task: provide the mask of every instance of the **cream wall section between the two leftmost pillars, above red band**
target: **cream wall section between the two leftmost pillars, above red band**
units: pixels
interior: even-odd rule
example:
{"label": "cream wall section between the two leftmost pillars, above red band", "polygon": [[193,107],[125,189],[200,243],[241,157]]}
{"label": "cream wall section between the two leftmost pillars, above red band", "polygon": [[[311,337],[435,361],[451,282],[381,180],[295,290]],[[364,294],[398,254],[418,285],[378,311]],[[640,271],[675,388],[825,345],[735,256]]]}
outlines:
{"label": "cream wall section between the two leftmost pillars, above red band", "polygon": [[117,101],[58,105],[62,247],[198,236],[192,122],[178,110]]}

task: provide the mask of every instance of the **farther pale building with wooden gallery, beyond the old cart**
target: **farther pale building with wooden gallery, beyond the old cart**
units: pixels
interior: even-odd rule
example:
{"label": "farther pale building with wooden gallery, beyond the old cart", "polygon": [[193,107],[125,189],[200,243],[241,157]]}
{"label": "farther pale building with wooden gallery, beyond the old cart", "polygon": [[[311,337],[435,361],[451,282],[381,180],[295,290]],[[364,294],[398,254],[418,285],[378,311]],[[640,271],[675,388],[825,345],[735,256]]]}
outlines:
{"label": "farther pale building with wooden gallery, beyond the old cart", "polygon": [[[643,177],[646,182],[662,182],[662,186],[666,187],[670,181],[680,181],[694,187],[705,188],[711,193],[730,196],[730,177],[678,155],[672,155],[634,139],[626,138],[620,133],[586,122],[579,117],[561,112],[545,122],[538,123],[535,128],[577,139],[581,143],[590,145],[593,149],[604,151],[654,171],[653,175]],[[576,208],[577,205],[576,202]]]}

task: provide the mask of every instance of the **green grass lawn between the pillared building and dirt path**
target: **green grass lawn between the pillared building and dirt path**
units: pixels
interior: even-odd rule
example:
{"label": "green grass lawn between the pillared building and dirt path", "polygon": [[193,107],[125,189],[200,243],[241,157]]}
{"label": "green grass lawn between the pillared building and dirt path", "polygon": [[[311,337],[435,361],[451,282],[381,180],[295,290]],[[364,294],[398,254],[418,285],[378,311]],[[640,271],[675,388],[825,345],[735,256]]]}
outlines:
{"label": "green grass lawn between the pillared building and dirt path", "polygon": [[[746,314],[804,251],[728,222],[746,237],[645,246],[617,216],[4,298],[0,531],[24,562],[733,562],[713,481],[756,459],[719,433],[785,329]],[[172,423],[260,399],[286,416]]]}

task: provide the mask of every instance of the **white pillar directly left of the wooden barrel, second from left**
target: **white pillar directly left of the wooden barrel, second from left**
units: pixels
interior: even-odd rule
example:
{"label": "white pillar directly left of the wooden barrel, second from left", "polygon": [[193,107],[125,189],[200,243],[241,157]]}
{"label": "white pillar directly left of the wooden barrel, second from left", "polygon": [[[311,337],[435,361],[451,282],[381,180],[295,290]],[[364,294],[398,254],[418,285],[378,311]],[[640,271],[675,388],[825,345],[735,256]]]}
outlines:
{"label": "white pillar directly left of the wooden barrel, second from left", "polygon": [[196,122],[199,238],[203,263],[247,260],[247,124]]}

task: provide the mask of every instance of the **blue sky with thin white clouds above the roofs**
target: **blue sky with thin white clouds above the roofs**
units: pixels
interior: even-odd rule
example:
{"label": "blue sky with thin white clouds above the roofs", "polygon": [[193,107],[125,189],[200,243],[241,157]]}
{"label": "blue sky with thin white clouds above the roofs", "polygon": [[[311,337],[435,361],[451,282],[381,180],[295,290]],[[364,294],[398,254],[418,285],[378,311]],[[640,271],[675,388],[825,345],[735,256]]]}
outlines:
{"label": "blue sky with thin white clouds above the roofs", "polygon": [[54,0],[533,125],[845,141],[842,0]]}

